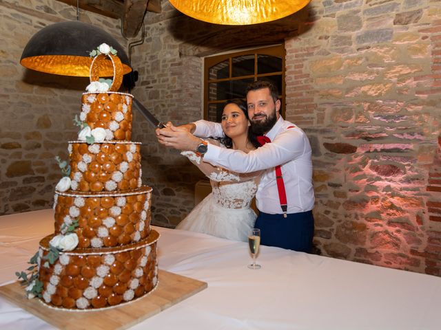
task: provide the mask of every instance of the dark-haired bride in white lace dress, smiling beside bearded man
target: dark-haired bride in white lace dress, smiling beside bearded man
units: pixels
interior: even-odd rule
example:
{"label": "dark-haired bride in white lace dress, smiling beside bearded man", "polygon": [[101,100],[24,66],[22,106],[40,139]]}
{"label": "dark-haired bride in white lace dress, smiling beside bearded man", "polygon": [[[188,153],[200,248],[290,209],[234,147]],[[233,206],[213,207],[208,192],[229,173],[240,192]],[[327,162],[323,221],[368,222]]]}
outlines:
{"label": "dark-haired bride in white lace dress, smiling beside bearded man", "polygon": [[[245,153],[259,145],[256,136],[249,130],[247,105],[243,100],[234,99],[225,103],[220,124],[225,137],[220,140],[221,143],[217,140],[210,140],[210,143]],[[203,162],[201,156],[192,151],[181,154],[207,175],[212,192],[176,228],[247,241],[249,230],[256,221],[256,213],[250,204],[256,195],[262,171],[234,173]]]}

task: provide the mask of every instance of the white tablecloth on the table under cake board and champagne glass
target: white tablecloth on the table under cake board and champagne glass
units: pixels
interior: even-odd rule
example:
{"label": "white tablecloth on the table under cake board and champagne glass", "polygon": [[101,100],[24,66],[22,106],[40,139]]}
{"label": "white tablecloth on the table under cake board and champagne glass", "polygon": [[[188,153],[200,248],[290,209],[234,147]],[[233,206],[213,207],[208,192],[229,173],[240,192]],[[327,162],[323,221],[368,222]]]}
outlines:
{"label": "white tablecloth on the table under cake board and champagne glass", "polygon": [[[0,283],[25,268],[52,217],[0,217]],[[441,278],[267,246],[249,270],[247,243],[155,229],[159,267],[208,288],[131,329],[441,329]],[[52,327],[0,298],[0,329]]]}

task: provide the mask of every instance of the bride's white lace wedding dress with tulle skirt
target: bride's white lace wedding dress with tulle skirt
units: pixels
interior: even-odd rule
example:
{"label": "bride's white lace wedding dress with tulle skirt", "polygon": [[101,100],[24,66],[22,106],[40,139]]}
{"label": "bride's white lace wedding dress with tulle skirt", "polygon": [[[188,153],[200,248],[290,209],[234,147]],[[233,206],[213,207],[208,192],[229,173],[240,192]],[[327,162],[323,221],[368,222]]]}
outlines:
{"label": "bride's white lace wedding dress with tulle skirt", "polygon": [[[210,143],[216,142],[210,140]],[[181,154],[207,175],[212,192],[176,228],[234,241],[247,241],[249,230],[256,221],[256,213],[250,205],[256,195],[261,172],[234,173],[203,162],[192,151],[183,151]]]}

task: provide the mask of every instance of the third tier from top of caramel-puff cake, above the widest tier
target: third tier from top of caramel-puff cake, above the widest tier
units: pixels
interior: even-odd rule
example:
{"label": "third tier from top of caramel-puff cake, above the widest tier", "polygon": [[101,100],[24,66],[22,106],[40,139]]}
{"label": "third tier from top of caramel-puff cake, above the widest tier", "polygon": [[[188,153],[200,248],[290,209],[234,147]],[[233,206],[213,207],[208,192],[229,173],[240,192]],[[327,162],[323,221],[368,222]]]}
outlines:
{"label": "third tier from top of caramel-puff cake, above the widest tier", "polygon": [[79,248],[125,245],[150,234],[152,188],[121,193],[55,192],[55,234],[78,219]]}

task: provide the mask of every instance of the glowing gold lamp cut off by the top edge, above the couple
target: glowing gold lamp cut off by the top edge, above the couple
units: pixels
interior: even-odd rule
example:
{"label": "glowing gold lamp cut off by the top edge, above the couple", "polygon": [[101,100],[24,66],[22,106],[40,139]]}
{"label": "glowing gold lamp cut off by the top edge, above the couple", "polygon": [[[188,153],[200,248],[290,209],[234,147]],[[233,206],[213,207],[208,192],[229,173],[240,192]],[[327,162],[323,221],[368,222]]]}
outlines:
{"label": "glowing gold lamp cut off by the top edge, above the couple", "polygon": [[265,23],[287,17],[311,0],[169,0],[189,17],[223,25]]}

